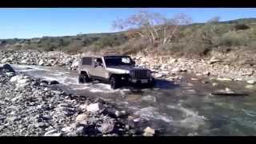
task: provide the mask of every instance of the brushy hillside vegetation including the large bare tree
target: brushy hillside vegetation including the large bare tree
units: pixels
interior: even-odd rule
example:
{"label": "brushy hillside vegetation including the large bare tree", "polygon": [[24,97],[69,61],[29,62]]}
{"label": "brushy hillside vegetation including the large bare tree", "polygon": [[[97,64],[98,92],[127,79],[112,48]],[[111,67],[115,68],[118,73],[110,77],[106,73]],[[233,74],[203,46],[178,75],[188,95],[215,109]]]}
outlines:
{"label": "brushy hillside vegetation including the large bare tree", "polygon": [[65,37],[2,39],[0,49],[62,50],[66,53],[115,52],[133,54],[171,54],[186,58],[207,58],[218,54],[226,61],[254,66],[256,63],[256,18],[219,22],[191,23],[186,14],[165,18],[160,14],[139,12],[118,19],[118,33],[78,34]]}

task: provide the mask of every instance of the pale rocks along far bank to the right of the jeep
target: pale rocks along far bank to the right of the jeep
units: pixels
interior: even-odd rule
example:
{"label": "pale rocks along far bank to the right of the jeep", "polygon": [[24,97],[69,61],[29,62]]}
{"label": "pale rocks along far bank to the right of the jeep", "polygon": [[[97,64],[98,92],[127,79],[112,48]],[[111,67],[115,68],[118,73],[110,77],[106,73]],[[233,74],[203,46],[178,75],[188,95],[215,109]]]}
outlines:
{"label": "pale rocks along far bank to the right of the jeep", "polygon": [[156,78],[170,78],[175,74],[193,73],[197,76],[212,76],[214,78],[229,78],[231,80],[256,80],[254,67],[230,66],[218,58],[193,59],[172,58],[170,56],[152,56],[134,54],[132,58],[138,66],[146,66],[154,71]]}

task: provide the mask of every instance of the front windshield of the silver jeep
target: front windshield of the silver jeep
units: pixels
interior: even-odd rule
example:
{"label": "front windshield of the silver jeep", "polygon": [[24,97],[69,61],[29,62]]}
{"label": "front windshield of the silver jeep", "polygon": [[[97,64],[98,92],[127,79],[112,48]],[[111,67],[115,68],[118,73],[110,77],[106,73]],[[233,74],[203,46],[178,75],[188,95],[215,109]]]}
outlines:
{"label": "front windshield of the silver jeep", "polygon": [[128,56],[106,56],[106,66],[133,66],[134,63]]}

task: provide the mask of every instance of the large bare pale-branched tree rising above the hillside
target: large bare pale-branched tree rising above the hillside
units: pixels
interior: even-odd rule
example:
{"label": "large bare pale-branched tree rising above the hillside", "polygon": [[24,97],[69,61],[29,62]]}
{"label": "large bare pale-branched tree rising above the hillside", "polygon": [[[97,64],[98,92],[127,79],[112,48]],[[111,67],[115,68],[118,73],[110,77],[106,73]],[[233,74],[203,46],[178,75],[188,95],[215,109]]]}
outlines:
{"label": "large bare pale-branched tree rising above the hillside", "polygon": [[136,30],[142,38],[147,38],[152,44],[171,42],[178,34],[179,26],[188,24],[190,18],[186,14],[177,14],[174,18],[166,18],[162,14],[139,11],[129,18],[117,18],[113,27],[118,30]]}

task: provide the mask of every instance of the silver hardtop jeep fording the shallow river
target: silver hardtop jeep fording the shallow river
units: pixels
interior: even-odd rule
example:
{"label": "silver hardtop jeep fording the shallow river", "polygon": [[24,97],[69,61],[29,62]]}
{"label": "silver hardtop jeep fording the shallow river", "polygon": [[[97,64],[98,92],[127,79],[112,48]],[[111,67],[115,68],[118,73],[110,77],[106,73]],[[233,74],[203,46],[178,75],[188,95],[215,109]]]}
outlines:
{"label": "silver hardtop jeep fording the shallow river", "polygon": [[91,80],[108,82],[112,89],[123,84],[134,86],[154,86],[151,70],[136,67],[129,56],[103,55],[82,57],[78,66],[78,82],[85,83]]}

